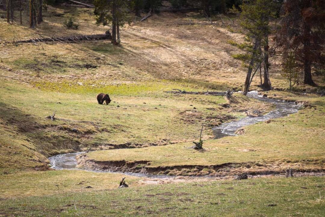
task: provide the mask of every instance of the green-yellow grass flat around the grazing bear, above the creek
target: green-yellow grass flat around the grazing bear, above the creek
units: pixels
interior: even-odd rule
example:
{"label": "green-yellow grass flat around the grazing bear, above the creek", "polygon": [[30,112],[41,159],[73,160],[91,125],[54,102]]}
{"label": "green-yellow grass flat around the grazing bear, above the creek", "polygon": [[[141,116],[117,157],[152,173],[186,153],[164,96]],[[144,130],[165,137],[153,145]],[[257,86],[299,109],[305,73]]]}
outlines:
{"label": "green-yellow grass flat around the grazing bear, above the creek", "polygon": [[[1,82],[0,131],[3,136],[0,140],[4,147],[1,152],[6,156],[3,158],[6,160],[0,162],[1,172],[34,168],[46,164],[44,156],[84,148],[99,150],[119,144],[141,147],[191,141],[199,136],[203,121],[213,126],[241,115],[222,107],[227,103],[224,97],[175,96],[163,92],[176,87],[194,90],[197,84],[171,81],[98,84],[99,87],[90,84],[90,81],[83,81],[83,85],[44,82],[30,88]],[[109,92],[112,102],[99,105],[98,92]],[[12,96],[22,97],[13,100]],[[258,104],[240,95],[237,99],[235,108],[249,108],[247,102]],[[269,109],[268,105],[261,105],[266,111]],[[57,111],[56,117],[60,118],[54,122],[45,118],[53,111]],[[212,130],[205,130],[203,136],[212,137]],[[12,144],[13,138],[19,142]],[[17,148],[16,152],[12,151],[13,147]],[[25,147],[29,147],[27,152]],[[19,156],[25,155],[27,160],[19,160]]]}

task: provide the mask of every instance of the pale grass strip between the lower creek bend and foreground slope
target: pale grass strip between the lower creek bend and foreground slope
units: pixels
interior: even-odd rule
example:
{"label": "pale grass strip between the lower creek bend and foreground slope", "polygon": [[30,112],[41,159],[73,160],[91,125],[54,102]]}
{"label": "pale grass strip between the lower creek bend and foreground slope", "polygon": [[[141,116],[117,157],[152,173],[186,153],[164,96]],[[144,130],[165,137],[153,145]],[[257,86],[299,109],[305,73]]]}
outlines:
{"label": "pale grass strip between the lower creek bend and foreground slope", "polygon": [[[96,173],[82,170],[19,172],[1,176],[0,198],[109,190],[117,188],[123,177],[126,177],[126,183],[138,185],[136,182],[139,178],[119,173]],[[87,186],[92,188],[86,188]]]}

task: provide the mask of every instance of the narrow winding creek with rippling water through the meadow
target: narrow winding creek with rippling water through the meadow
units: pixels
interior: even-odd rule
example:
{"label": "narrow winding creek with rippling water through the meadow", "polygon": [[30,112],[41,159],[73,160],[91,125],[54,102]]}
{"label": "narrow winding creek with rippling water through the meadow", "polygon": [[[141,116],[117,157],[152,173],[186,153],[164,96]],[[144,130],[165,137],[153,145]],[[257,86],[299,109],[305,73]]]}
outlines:
{"label": "narrow winding creek with rippling water through the meadow", "polygon": [[[236,136],[235,134],[236,130],[240,129],[241,127],[296,113],[298,112],[298,109],[300,107],[299,105],[296,105],[293,102],[285,102],[285,101],[279,101],[279,100],[262,97],[258,95],[257,91],[251,91],[247,94],[247,96],[250,98],[258,99],[263,102],[272,103],[276,106],[276,108],[275,110],[269,112],[268,114],[260,117],[244,117],[238,121],[232,121],[229,123],[221,124],[220,126],[213,128],[212,130],[214,131],[214,135],[216,139],[225,136]],[[82,153],[83,152],[76,152],[76,153],[62,154],[62,155],[49,157],[51,168],[56,170],[77,169],[76,156]],[[100,170],[88,170],[88,171],[104,172]],[[114,173],[121,173],[121,172],[114,172]],[[125,172],[123,174],[137,176],[137,177],[150,177],[150,178],[170,177],[167,175],[150,175],[150,174],[132,173],[132,172]]]}

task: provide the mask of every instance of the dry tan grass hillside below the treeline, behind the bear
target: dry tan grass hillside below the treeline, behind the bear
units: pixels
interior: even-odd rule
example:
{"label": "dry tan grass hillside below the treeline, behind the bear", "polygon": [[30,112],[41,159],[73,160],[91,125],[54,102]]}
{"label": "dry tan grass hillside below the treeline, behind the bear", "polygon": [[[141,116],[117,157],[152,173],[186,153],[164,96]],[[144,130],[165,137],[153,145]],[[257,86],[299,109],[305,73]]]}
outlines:
{"label": "dry tan grass hillside below the treeline, behind the bear", "polygon": [[[108,28],[95,25],[94,16],[89,14],[91,10],[68,10],[74,11],[72,17],[80,23],[78,30],[63,27],[64,19],[70,16],[68,14],[45,17],[45,21],[35,30],[28,29],[26,25],[10,25],[1,20],[5,29],[1,38],[12,41],[13,38],[52,37],[57,31],[57,36],[98,34]],[[52,13],[63,13],[63,9],[49,7],[45,15]],[[196,14],[188,15],[196,19]],[[65,78],[100,79],[107,84],[117,81],[192,79],[240,88],[245,78],[245,69],[241,67],[240,61],[231,57],[239,50],[229,46],[227,40],[241,40],[241,35],[215,26],[174,25],[179,19],[187,18],[185,14],[161,13],[145,22],[127,25],[123,28],[122,44],[118,47],[109,41],[38,46],[20,44],[17,47],[5,45],[1,48],[3,55],[0,68],[10,68],[12,71],[5,70],[2,75],[25,82]],[[83,63],[99,67],[85,70],[75,66]],[[277,65],[272,67],[274,70],[276,68]],[[257,77],[255,80],[258,82]],[[278,79],[274,82],[278,82]]]}

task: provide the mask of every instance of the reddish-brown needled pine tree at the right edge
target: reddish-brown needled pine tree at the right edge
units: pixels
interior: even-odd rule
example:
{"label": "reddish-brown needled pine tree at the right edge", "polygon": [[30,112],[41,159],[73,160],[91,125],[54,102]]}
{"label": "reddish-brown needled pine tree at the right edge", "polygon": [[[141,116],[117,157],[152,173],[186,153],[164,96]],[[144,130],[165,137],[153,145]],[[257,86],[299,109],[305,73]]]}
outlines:
{"label": "reddish-brown needled pine tree at the right edge", "polygon": [[325,65],[325,0],[286,0],[275,37],[283,56],[294,52],[304,83],[314,85],[312,65]]}

